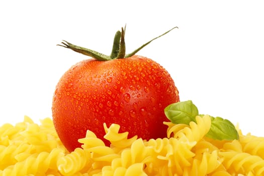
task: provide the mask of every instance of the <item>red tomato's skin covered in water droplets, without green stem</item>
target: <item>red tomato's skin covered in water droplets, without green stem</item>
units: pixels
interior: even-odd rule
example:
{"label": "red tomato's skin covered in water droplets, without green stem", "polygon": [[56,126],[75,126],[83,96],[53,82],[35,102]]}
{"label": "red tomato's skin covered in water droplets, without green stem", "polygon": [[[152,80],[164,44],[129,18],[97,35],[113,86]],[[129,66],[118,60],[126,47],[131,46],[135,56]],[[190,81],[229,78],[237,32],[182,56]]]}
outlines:
{"label": "red tomato's skin covered in water droplets, without green stem", "polygon": [[80,61],[60,78],[53,96],[52,116],[64,146],[73,151],[79,138],[93,131],[106,145],[103,123],[121,126],[128,137],[166,137],[164,108],[178,102],[179,92],[169,73],[155,61],[125,59]]}

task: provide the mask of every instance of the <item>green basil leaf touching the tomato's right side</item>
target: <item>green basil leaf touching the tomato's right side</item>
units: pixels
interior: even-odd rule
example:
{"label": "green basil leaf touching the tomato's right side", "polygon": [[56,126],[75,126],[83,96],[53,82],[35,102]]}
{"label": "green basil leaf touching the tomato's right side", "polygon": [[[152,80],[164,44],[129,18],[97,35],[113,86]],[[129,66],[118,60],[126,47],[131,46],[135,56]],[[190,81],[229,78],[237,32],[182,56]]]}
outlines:
{"label": "green basil leaf touching the tomato's right side", "polygon": [[187,125],[191,121],[196,122],[195,117],[199,115],[197,107],[191,100],[168,105],[164,109],[164,113],[172,123]]}

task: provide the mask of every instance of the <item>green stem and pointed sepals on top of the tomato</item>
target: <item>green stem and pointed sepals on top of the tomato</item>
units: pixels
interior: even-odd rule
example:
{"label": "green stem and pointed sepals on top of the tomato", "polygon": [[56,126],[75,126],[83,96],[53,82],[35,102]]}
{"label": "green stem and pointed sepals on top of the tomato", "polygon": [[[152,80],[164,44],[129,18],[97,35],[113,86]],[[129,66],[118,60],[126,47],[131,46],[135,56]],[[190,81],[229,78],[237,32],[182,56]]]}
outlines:
{"label": "green stem and pointed sepals on top of the tomato", "polygon": [[73,45],[65,40],[63,40],[61,42],[61,44],[63,45],[58,45],[58,46],[62,46],[68,49],[71,49],[75,52],[93,57],[99,61],[108,61],[108,60],[113,60],[113,59],[121,59],[121,58],[127,58],[127,57],[131,57],[133,55],[135,55],[139,50],[141,50],[142,48],[144,48],[146,45],[148,45],[150,42],[152,42],[153,40],[167,34],[168,32],[170,32],[171,30],[178,28],[178,27],[173,27],[172,29],[166,31],[165,33],[159,35],[158,37],[153,38],[152,40],[148,41],[147,43],[141,45],[139,48],[137,48],[136,50],[134,50],[133,52],[126,54],[126,44],[125,44],[125,31],[126,31],[126,26],[125,28],[122,27],[121,31],[117,31],[115,34],[115,38],[114,38],[114,43],[113,43],[113,48],[112,48],[112,52],[111,54],[105,55],[102,54],[100,52],[91,50],[91,49],[87,49],[87,48],[83,48],[77,45]]}

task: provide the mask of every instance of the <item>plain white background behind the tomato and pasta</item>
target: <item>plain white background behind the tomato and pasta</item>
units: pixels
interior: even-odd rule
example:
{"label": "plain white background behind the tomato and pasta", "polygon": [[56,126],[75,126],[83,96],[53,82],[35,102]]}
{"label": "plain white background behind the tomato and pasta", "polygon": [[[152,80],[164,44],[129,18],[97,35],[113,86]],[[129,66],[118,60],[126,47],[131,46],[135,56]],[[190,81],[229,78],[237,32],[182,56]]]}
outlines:
{"label": "plain white background behind the tomato and pasta", "polygon": [[88,57],[62,40],[109,54],[125,24],[127,52],[178,26],[138,55],[160,63],[181,101],[264,136],[261,1],[1,1],[0,124],[51,117],[61,75]]}

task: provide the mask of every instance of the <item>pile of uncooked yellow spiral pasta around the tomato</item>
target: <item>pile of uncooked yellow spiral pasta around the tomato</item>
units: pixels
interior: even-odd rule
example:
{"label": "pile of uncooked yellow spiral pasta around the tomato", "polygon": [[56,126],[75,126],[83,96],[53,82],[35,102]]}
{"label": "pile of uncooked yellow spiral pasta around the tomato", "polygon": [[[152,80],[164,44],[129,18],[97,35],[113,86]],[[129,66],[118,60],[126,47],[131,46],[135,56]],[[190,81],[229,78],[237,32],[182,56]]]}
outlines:
{"label": "pile of uncooked yellow spiral pasta around the tomato", "polygon": [[68,152],[46,118],[0,127],[0,175],[264,175],[264,137],[239,132],[239,140],[206,138],[210,117],[190,125],[164,122],[167,138],[142,140],[120,126],[105,128],[111,146],[87,131]]}

